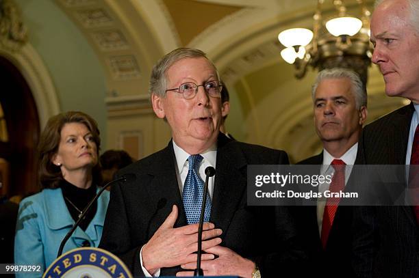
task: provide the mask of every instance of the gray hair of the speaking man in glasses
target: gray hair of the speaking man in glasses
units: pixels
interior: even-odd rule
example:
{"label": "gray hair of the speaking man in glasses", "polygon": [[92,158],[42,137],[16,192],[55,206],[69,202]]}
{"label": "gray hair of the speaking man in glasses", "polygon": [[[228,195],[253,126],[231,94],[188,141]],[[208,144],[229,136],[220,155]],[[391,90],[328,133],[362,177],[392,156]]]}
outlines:
{"label": "gray hair of the speaking man in glasses", "polygon": [[[151,77],[150,77],[150,83],[149,83],[149,94],[156,94],[157,96],[165,97],[166,96],[166,87],[167,85],[167,77],[166,72],[170,66],[175,64],[177,61],[181,59],[186,58],[205,58],[207,59],[212,66],[214,64],[208,57],[205,55],[203,51],[200,51],[199,49],[195,48],[177,48],[174,51],[171,51],[170,53],[167,53],[157,61],[157,64],[153,67],[153,70],[151,70]],[[214,69],[216,70],[216,67],[214,66]],[[220,80],[218,71],[216,70],[217,78]]]}

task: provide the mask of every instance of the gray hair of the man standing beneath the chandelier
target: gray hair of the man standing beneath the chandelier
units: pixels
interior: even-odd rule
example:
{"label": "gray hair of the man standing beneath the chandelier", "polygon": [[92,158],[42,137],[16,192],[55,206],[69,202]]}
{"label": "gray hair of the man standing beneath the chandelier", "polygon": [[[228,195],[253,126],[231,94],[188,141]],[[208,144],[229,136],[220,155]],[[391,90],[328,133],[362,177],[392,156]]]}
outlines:
{"label": "gray hair of the man standing beneath the chandelier", "polygon": [[329,68],[318,73],[316,82],[312,87],[312,98],[315,100],[316,89],[318,84],[325,79],[340,79],[347,78],[351,81],[352,93],[355,96],[355,103],[357,109],[367,105],[367,94],[364,84],[359,75],[352,70],[346,68]]}

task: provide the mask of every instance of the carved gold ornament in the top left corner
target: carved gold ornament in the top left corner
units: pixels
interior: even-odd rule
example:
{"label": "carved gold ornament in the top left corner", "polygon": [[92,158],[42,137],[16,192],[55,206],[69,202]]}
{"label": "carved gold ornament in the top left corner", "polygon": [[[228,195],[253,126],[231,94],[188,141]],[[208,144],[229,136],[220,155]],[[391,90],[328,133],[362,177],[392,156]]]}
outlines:
{"label": "carved gold ornament in the top left corner", "polygon": [[17,51],[27,42],[27,28],[21,10],[13,0],[0,0],[0,44]]}

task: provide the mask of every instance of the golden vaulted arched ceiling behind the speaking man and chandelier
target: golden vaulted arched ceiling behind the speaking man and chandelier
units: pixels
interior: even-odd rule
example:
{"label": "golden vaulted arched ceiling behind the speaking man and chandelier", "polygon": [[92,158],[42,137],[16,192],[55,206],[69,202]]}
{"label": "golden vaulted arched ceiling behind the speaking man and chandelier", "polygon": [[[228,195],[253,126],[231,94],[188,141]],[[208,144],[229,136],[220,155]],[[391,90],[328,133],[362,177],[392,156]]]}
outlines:
{"label": "golden vaulted arched ceiling behind the speaking man and chandelier", "polygon": [[[230,133],[242,141],[283,148],[294,161],[320,149],[310,96],[316,72],[296,80],[292,66],[281,59],[282,46],[277,42],[283,29],[312,27],[316,1],[54,1],[99,57],[110,91],[108,101],[144,102],[157,59],[177,47],[200,48],[229,87]],[[354,5],[355,0],[346,2]],[[326,10],[333,11],[331,3]],[[384,96],[383,79],[374,66],[368,92],[370,120],[403,104]]]}

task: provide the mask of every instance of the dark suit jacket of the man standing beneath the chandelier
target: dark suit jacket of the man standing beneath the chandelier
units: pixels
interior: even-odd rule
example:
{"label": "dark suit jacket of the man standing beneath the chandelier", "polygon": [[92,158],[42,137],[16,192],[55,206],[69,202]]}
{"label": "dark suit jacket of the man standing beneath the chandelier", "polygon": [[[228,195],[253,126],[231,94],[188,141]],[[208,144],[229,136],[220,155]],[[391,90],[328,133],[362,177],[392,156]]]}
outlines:
{"label": "dark suit jacket of the man standing beneath the chandelier", "polygon": [[[320,165],[323,163],[323,153],[309,157],[297,164]],[[351,175],[352,176],[352,175]],[[351,178],[345,186],[347,191]],[[318,277],[354,277],[351,268],[351,225],[352,208],[338,206],[335,219],[329,233],[326,248],[323,249],[318,232],[317,207],[296,207],[296,223],[305,247],[309,251],[310,271],[307,275]]]}

